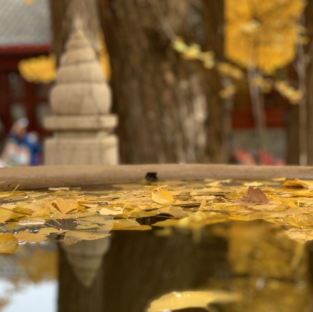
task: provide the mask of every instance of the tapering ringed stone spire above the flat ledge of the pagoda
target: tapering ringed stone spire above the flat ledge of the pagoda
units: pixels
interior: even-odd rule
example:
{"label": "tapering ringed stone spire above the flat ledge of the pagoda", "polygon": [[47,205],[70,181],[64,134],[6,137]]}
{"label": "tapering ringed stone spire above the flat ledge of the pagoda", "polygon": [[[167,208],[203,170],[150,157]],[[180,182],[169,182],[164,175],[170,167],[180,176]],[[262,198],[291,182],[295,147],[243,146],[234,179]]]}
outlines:
{"label": "tapering ringed stone spire above the flat ledge of the pagoda", "polygon": [[97,115],[110,111],[111,90],[81,27],[73,27],[69,36],[50,104],[58,115]]}

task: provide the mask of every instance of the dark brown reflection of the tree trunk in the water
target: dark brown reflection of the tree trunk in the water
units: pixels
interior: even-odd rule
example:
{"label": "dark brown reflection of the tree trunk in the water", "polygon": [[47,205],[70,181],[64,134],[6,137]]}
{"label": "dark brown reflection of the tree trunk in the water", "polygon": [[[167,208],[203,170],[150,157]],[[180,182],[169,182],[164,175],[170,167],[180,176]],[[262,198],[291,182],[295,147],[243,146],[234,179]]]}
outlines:
{"label": "dark brown reflection of the tree trunk in the water", "polygon": [[211,229],[201,233],[196,243],[191,233],[113,232],[91,288],[79,283],[60,249],[59,312],[143,312],[167,292],[197,290],[212,276],[228,277],[226,240]]}

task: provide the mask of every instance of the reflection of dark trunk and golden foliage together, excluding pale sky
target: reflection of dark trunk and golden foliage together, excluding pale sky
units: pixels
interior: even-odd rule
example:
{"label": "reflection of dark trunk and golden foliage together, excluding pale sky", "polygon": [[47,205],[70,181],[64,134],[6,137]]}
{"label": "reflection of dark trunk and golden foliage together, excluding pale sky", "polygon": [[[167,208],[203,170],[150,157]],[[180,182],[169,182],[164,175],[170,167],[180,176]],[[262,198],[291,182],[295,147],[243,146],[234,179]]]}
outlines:
{"label": "reflection of dark trunk and golden foliage together, excluding pale sky", "polygon": [[242,294],[239,302],[213,304],[214,311],[312,311],[308,250],[280,226],[232,221],[202,229],[201,237],[196,243],[177,230],[169,237],[152,230],[114,232],[88,289],[61,253],[59,311],[143,312],[172,291]]}

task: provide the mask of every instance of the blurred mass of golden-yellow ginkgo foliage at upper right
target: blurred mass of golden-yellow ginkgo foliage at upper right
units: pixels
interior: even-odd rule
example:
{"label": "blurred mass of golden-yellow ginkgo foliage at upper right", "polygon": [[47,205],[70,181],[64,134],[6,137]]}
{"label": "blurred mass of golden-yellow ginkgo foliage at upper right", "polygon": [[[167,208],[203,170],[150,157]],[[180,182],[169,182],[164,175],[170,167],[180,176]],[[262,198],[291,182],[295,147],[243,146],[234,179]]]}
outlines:
{"label": "blurred mass of golden-yellow ginkgo foliage at upper right", "polygon": [[224,2],[224,53],[228,60],[272,74],[294,59],[305,0]]}

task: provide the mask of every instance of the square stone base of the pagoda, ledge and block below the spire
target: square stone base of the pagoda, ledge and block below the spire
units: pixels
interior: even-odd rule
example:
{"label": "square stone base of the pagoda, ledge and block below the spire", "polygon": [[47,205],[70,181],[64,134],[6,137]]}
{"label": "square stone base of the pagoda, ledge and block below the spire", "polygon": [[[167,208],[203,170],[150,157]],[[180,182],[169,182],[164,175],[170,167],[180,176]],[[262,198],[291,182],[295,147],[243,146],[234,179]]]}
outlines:
{"label": "square stone base of the pagoda, ledge and block below the spire", "polygon": [[118,139],[110,132],[114,115],[49,116],[45,128],[54,132],[45,140],[45,165],[116,165]]}

